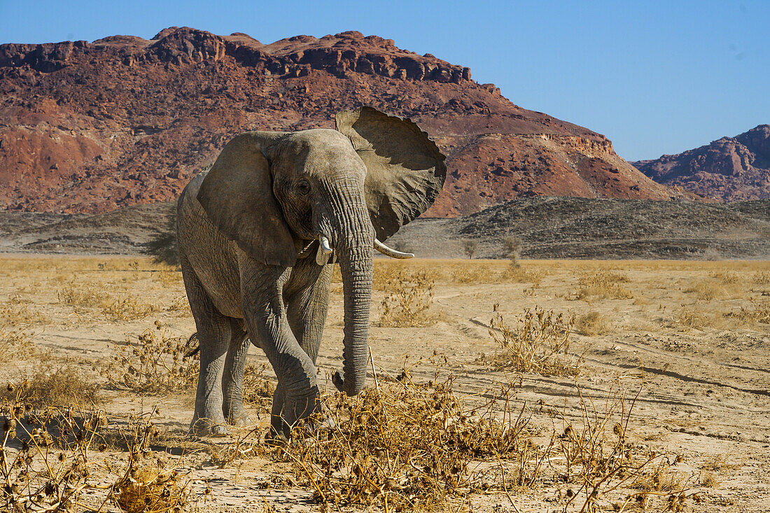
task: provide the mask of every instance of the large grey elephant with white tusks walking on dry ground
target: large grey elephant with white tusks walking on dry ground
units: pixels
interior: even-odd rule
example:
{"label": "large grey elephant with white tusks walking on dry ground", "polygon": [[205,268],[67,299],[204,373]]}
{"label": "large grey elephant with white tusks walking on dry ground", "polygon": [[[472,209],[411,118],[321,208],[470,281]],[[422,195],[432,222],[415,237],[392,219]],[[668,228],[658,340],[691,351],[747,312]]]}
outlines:
{"label": "large grey elephant with white tusks walking on dry ground", "polygon": [[177,202],[182,278],[200,349],[193,434],[250,422],[243,372],[253,343],[278,378],[273,437],[320,411],[316,358],[333,265],[343,281],[343,368],[349,396],[367,377],[373,250],[420,216],[444,186],[446,157],[426,132],[363,106],[335,129],[244,132]]}

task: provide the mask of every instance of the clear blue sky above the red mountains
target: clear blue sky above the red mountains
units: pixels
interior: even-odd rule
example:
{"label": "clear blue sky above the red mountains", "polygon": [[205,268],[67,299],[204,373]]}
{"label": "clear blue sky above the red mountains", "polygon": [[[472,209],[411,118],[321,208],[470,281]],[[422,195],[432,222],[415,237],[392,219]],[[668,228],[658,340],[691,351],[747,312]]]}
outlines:
{"label": "clear blue sky above the red mountains", "polygon": [[527,109],[654,159],[770,123],[770,2],[12,2],[0,42],[150,38],[187,25],[261,42],[345,30],[467,65]]}

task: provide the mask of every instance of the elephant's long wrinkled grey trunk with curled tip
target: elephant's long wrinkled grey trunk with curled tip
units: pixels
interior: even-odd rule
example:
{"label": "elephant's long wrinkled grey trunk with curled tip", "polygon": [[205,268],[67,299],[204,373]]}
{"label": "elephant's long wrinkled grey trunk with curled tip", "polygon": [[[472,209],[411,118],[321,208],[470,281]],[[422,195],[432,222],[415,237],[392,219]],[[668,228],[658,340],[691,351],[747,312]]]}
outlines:
{"label": "elephant's long wrinkled grey trunk with curled tip", "polygon": [[374,233],[366,210],[353,220],[343,220],[338,226],[336,250],[345,302],[345,348],[343,377],[340,380],[337,376],[335,384],[340,391],[353,396],[367,381]]}

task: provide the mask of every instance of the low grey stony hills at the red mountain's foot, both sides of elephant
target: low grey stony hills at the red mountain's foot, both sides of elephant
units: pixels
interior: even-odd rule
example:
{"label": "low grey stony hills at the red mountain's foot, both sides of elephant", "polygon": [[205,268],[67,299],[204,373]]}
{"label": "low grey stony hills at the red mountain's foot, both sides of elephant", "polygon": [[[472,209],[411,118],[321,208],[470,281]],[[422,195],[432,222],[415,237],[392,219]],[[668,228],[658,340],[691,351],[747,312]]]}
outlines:
{"label": "low grey stony hills at the red mountain's foot, both sides of elephant", "polygon": [[[145,252],[167,230],[172,203],[109,213],[0,212],[0,252]],[[525,258],[770,258],[770,200],[704,203],[649,199],[513,199],[457,219],[418,219],[389,243],[420,257],[462,258],[466,239],[480,258],[504,258],[518,236]]]}

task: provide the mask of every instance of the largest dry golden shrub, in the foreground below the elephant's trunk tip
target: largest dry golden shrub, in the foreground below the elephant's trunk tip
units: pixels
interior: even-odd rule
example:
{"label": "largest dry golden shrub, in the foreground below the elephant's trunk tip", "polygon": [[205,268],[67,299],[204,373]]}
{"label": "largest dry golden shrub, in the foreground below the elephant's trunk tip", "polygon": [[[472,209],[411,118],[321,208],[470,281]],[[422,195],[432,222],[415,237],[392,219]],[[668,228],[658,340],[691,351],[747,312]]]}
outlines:
{"label": "largest dry golden shrub, in the foreground below the elephant's trunk tip", "polygon": [[499,489],[496,478],[475,468],[481,458],[524,468],[505,474],[500,463],[502,488],[537,481],[547,449],[532,444],[525,409],[511,411],[510,386],[493,394],[503,404],[500,420],[494,399],[467,407],[451,376],[415,384],[403,372],[400,381],[376,385],[357,397],[324,397],[323,424],[331,427],[296,429],[284,449],[316,500],[337,508],[435,508],[450,498]]}

